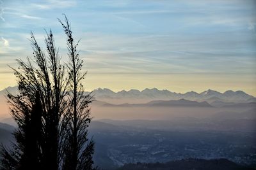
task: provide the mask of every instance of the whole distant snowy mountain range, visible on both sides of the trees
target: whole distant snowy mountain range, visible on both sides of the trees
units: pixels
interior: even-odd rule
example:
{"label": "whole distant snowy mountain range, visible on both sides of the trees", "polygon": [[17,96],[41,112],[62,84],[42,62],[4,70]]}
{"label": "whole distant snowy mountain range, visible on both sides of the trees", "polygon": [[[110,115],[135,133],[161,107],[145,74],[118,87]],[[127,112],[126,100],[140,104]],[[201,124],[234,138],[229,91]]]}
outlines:
{"label": "whole distant snowy mountain range, visible on both sides of the trees", "polygon": [[[17,93],[17,87],[8,87],[6,88],[9,92]],[[6,90],[1,90],[0,95],[6,94]],[[139,103],[147,103],[149,101],[157,101],[157,100],[164,100],[164,101],[170,101],[170,100],[180,100],[185,99],[189,101],[197,101],[197,102],[204,102],[206,101],[209,104],[220,104],[225,105],[231,104],[231,103],[251,103],[255,102],[256,98],[246,94],[245,92],[241,90],[233,91],[233,90],[227,90],[226,92],[218,92],[216,90],[205,90],[204,92],[197,93],[197,92],[186,92],[184,94],[171,92],[169,90],[158,90],[156,88],[153,89],[144,89],[144,90],[121,90],[119,92],[113,92],[110,89],[95,89],[92,92],[93,97],[97,99],[98,101],[120,101],[120,99],[124,100],[126,99],[127,103],[138,103],[137,101],[143,101]],[[111,102],[110,102],[111,103]],[[125,102],[123,102],[125,103]],[[120,104],[120,103],[118,103]]]}

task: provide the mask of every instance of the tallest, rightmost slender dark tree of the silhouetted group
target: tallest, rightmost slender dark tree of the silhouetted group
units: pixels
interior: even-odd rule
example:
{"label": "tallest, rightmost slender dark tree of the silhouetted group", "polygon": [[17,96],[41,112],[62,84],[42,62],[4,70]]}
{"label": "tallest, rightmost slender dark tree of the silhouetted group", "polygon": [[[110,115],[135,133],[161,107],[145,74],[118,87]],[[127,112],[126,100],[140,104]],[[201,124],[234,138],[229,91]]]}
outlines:
{"label": "tallest, rightmost slender dark tree of the silhouetted group", "polygon": [[70,93],[68,94],[68,101],[70,103],[69,110],[69,124],[68,124],[68,146],[65,151],[65,169],[92,169],[92,153],[93,141],[88,141],[87,127],[90,123],[90,108],[88,104],[91,103],[90,94],[84,92],[81,81],[84,79],[86,73],[81,73],[83,60],[79,58],[77,46],[72,36],[70,23],[65,16],[65,23],[59,22],[63,26],[65,34],[67,35],[67,48],[69,62],[67,64]]}

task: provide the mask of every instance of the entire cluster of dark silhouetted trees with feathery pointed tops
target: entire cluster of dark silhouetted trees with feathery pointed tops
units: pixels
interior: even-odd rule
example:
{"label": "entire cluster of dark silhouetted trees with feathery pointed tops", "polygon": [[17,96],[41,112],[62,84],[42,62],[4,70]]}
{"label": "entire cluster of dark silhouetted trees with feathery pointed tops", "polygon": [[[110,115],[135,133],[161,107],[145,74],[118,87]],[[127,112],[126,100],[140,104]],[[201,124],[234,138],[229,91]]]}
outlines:
{"label": "entire cluster of dark silhouetted trees with feathery pointed tops", "polygon": [[87,137],[91,98],[81,84],[86,73],[66,16],[61,24],[68,36],[67,64],[61,64],[50,30],[46,52],[31,33],[33,57],[12,68],[19,94],[7,97],[18,127],[12,147],[1,148],[2,169],[93,169],[94,143]]}

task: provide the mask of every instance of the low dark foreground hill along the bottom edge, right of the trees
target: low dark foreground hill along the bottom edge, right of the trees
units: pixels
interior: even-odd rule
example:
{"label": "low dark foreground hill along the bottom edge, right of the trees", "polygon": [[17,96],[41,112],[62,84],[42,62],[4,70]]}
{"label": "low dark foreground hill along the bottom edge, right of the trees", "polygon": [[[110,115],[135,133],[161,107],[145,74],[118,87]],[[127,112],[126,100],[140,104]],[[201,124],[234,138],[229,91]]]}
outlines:
{"label": "low dark foreground hill along the bottom edge, right of the trees", "polygon": [[248,167],[243,167],[231,162],[227,159],[185,159],[175,160],[166,163],[137,163],[137,164],[125,164],[118,168],[118,170],[250,170]]}

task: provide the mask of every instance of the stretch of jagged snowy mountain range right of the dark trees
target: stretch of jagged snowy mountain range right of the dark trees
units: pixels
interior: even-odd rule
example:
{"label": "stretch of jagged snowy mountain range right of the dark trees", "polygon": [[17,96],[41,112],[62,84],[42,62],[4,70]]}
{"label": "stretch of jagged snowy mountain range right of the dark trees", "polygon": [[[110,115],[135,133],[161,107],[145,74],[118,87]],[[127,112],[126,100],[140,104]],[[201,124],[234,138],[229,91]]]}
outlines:
{"label": "stretch of jagged snowy mountain range right of the dark trees", "polygon": [[225,101],[225,102],[246,102],[255,99],[255,97],[246,94],[245,92],[239,91],[232,91],[228,90],[224,93],[220,93],[214,90],[206,90],[200,94],[196,92],[186,92],[185,94],[178,94],[175,92],[170,92],[169,90],[158,90],[154,89],[144,89],[142,91],[139,90],[129,90],[125,91],[122,90],[120,92],[113,92],[109,89],[96,89],[93,91],[95,94],[96,99],[104,101],[104,98],[136,98],[136,99],[172,99],[172,100],[179,100],[179,99],[187,99],[190,101]]}

